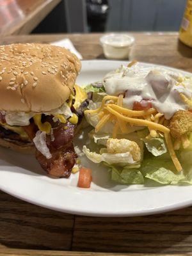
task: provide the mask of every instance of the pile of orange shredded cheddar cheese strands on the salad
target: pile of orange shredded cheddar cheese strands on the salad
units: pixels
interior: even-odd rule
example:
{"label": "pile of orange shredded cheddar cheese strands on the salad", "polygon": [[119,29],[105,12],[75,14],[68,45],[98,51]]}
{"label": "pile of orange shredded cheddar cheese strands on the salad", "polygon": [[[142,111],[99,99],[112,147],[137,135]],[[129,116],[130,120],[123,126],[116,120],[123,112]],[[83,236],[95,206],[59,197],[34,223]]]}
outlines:
{"label": "pile of orange shredded cheddar cheese strands on the salad", "polygon": [[[192,107],[192,103],[191,103]],[[95,127],[95,132],[99,132],[102,127],[109,121],[113,120],[114,127],[112,137],[116,138],[117,132],[120,129],[122,133],[129,133],[127,124],[138,125],[148,127],[150,131],[150,136],[152,138],[157,137],[157,131],[164,133],[164,138],[172,161],[175,164],[175,168],[178,172],[182,170],[182,166],[177,159],[174,148],[180,147],[180,144],[172,143],[170,136],[170,129],[168,129],[168,120],[165,120],[162,113],[157,113],[156,109],[150,108],[147,110],[135,111],[123,107],[123,95],[116,96],[106,96],[102,99],[101,105],[97,109],[86,110],[85,114],[95,115],[99,114],[99,123]],[[188,141],[186,138],[182,138],[182,145],[186,147]],[[177,144],[177,145],[176,145]]]}

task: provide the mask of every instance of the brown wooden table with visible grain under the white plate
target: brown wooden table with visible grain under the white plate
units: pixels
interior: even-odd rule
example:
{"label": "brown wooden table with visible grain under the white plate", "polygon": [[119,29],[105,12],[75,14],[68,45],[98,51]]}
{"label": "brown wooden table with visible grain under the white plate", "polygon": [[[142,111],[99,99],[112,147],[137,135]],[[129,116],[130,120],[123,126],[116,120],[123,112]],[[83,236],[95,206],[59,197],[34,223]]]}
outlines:
{"label": "brown wooden table with visible grain under the white plate", "polygon": [[[192,72],[192,49],[178,41],[177,33],[133,35],[131,60]],[[104,58],[99,34],[8,36],[1,38],[1,44],[65,37],[84,59]],[[192,207],[154,216],[93,218],[51,211],[0,193],[0,255],[84,255],[77,252],[192,253]]]}

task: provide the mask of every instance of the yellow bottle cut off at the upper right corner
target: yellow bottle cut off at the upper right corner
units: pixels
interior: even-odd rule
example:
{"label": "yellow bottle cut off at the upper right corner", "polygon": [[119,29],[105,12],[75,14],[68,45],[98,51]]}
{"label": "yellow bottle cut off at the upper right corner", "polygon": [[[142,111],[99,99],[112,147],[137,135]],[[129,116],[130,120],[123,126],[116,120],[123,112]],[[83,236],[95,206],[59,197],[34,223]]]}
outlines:
{"label": "yellow bottle cut off at the upper right corner", "polygon": [[179,39],[182,43],[192,47],[192,0],[187,1],[184,17],[180,25]]}

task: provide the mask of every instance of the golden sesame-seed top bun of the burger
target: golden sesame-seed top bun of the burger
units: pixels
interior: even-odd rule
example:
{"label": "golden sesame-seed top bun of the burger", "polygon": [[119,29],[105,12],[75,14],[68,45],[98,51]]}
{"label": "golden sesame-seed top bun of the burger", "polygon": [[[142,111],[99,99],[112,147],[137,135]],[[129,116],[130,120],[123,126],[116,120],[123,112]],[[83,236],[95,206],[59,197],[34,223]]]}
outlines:
{"label": "golden sesame-seed top bun of the burger", "polygon": [[70,96],[81,63],[70,51],[48,44],[0,46],[0,110],[45,112]]}

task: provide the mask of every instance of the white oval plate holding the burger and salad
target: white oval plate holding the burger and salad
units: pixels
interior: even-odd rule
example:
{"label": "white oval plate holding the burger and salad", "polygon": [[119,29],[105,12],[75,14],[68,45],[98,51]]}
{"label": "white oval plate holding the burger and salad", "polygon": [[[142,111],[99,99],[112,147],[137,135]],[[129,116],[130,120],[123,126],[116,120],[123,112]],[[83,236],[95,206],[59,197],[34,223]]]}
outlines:
{"label": "white oval plate holding the burger and salad", "polygon": [[[121,64],[127,62],[82,61],[77,84],[97,81]],[[76,143],[82,147],[85,140],[81,136]],[[85,158],[82,161],[93,170],[91,189],[77,188],[78,173],[72,174],[70,179],[51,179],[41,170],[34,156],[0,148],[0,189],[32,204],[87,216],[138,216],[192,205],[191,186],[116,185],[108,180],[106,169]]]}

